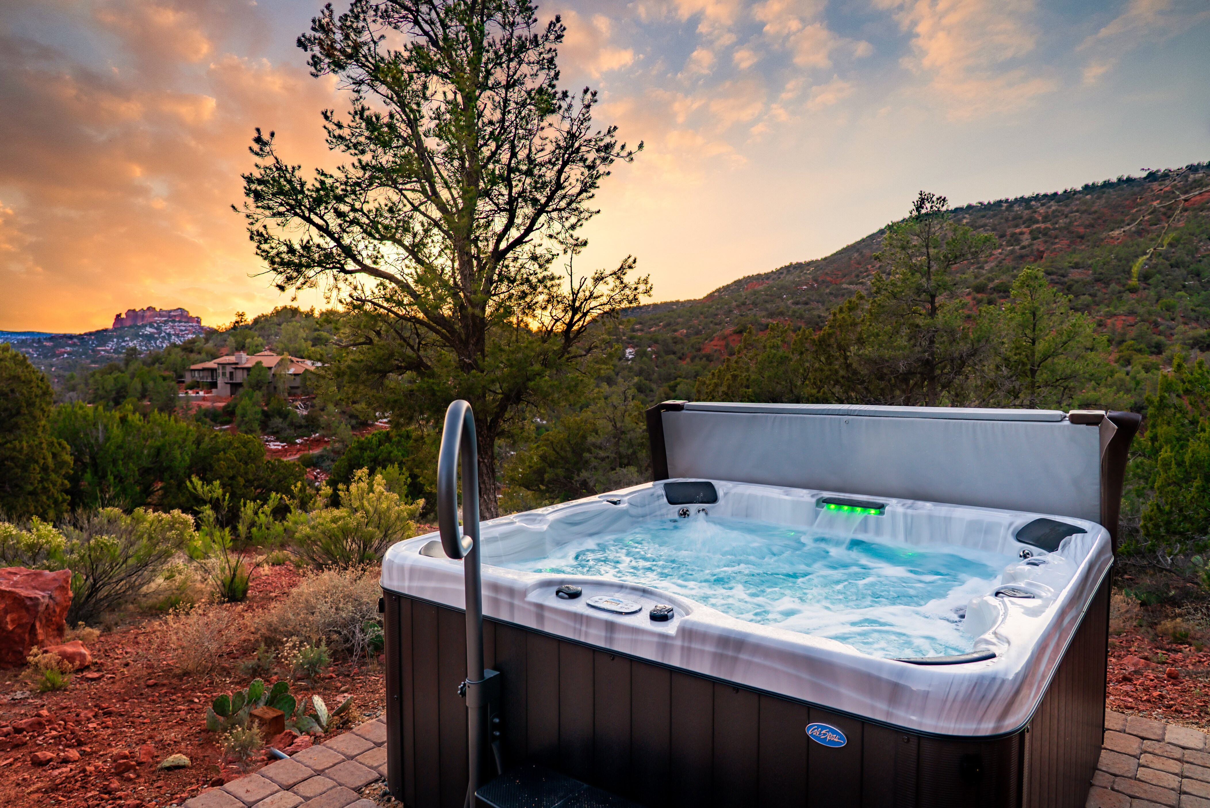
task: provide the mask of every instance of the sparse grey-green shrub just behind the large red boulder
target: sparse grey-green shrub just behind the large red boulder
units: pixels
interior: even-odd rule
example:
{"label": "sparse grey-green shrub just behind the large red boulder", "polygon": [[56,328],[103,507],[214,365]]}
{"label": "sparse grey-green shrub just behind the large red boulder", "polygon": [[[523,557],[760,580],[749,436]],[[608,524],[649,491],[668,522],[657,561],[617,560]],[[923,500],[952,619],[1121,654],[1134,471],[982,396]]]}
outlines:
{"label": "sparse grey-green shrub just behind the large red boulder", "polygon": [[194,536],[192,518],[179,510],[81,510],[59,527],[36,519],[24,527],[0,524],[0,561],[70,570],[68,621],[90,621],[133,600]]}

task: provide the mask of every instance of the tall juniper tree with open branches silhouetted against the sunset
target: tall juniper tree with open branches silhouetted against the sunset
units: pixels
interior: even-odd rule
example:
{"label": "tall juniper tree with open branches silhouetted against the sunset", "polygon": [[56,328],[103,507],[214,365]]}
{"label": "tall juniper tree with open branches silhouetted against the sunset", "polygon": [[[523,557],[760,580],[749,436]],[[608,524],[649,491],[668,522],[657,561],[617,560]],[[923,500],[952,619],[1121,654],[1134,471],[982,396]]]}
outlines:
{"label": "tall juniper tree with open branches silhouetted against the sunset", "polygon": [[594,127],[594,91],[559,87],[563,37],[525,0],[325,6],[298,44],[350,96],[323,112],[345,162],[309,175],[258,129],[244,175],[277,285],[327,284],[347,307],[333,383],[397,421],[472,403],[485,516],[497,440],[595,350],[595,321],[651,288],[629,256],[571,271],[600,180],[638,149]]}

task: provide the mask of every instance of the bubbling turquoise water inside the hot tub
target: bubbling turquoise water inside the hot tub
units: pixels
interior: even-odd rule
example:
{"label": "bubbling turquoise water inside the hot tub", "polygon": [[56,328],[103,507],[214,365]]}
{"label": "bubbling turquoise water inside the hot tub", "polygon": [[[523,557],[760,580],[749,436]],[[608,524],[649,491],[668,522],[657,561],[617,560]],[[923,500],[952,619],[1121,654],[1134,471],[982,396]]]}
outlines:
{"label": "bubbling turquoise water inside the hot tub", "polygon": [[1012,561],[956,549],[696,515],[641,523],[503,566],[645,584],[875,657],[929,657],[970,651],[963,608]]}

